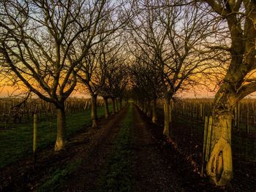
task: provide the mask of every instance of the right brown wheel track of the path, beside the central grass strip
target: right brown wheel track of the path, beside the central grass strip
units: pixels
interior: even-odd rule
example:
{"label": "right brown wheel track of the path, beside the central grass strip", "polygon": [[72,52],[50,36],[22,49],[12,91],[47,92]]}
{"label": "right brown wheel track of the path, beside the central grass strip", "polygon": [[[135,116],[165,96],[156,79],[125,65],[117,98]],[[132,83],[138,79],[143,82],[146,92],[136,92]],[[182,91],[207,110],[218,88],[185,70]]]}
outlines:
{"label": "right brown wheel track of the path, beside the central grass strip", "polygon": [[135,191],[184,191],[181,178],[162,158],[157,139],[152,137],[136,107],[134,114]]}

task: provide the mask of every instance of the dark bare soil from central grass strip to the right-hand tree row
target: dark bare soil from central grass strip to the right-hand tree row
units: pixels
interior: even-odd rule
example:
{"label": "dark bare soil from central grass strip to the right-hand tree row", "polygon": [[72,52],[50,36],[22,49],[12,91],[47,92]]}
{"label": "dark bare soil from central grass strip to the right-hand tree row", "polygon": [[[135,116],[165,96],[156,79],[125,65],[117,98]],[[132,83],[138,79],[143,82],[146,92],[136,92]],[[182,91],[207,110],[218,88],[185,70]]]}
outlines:
{"label": "dark bare soil from central grass strip to the right-hand tree row", "polygon": [[134,107],[135,191],[233,191],[193,172],[184,155],[162,138],[162,126]]}

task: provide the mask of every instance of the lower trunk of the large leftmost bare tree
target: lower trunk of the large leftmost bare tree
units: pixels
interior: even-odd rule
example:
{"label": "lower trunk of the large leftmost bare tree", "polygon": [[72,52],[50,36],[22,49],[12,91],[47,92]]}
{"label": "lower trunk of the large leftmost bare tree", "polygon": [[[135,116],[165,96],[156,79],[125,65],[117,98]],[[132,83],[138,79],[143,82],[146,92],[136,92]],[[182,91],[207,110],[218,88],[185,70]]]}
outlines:
{"label": "lower trunk of the large leftmost bare tree", "polygon": [[55,151],[64,150],[67,142],[66,138],[66,115],[63,107],[57,107],[57,138]]}

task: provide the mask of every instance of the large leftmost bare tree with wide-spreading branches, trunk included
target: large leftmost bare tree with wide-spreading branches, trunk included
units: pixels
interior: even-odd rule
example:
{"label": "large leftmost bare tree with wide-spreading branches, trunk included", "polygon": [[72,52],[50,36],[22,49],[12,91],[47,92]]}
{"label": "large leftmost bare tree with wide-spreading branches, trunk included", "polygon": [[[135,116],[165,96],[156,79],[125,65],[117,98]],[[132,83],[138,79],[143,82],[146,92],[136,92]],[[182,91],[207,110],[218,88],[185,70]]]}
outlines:
{"label": "large leftmost bare tree with wide-spreading branches, trunk included", "polygon": [[[39,98],[55,104],[55,150],[66,142],[64,101],[104,20],[105,1],[1,1],[4,69]],[[95,40],[96,39],[96,40]]]}

